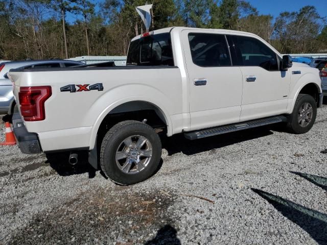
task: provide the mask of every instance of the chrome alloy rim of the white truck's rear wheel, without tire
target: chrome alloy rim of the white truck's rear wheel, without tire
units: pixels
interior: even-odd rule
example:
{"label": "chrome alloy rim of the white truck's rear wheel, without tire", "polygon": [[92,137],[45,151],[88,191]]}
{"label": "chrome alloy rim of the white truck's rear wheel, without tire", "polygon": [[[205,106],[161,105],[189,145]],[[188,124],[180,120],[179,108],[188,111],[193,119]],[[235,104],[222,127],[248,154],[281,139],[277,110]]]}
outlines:
{"label": "chrome alloy rim of the white truck's rear wheel, without tire", "polygon": [[142,135],[133,135],[123,140],[116,151],[116,164],[125,174],[137,174],[151,161],[151,142]]}

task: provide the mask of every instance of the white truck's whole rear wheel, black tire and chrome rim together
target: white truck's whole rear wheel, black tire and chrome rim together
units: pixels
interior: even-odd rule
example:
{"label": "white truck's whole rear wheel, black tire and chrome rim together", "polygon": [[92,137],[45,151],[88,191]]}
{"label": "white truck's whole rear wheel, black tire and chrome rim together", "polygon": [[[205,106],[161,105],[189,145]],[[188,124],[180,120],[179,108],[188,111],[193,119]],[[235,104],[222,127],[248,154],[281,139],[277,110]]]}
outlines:
{"label": "white truck's whole rear wheel, black tire and chrome rim together", "polygon": [[100,163],[113,182],[131,185],[151,177],[161,158],[161,141],[154,129],[139,121],[113,126],[101,144]]}

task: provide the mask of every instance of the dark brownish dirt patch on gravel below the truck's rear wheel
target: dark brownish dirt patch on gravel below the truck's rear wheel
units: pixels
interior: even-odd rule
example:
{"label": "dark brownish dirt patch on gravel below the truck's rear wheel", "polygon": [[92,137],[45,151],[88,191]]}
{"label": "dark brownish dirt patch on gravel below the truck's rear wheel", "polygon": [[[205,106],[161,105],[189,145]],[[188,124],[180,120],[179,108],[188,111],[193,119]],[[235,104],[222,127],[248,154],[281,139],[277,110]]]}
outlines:
{"label": "dark brownish dirt patch on gravel below the truck's rear wheel", "polygon": [[173,225],[168,211],[173,201],[156,190],[135,192],[130,187],[82,193],[35,216],[9,243],[144,243],[155,231]]}

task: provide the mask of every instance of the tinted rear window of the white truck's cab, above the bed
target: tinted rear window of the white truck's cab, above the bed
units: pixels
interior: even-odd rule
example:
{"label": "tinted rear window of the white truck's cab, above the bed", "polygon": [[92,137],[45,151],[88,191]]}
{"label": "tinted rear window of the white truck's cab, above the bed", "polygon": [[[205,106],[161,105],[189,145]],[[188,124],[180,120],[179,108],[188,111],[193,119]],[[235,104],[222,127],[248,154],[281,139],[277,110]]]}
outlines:
{"label": "tinted rear window of the white truck's cab, above the bed", "polygon": [[169,33],[139,38],[129,45],[126,65],[174,66]]}

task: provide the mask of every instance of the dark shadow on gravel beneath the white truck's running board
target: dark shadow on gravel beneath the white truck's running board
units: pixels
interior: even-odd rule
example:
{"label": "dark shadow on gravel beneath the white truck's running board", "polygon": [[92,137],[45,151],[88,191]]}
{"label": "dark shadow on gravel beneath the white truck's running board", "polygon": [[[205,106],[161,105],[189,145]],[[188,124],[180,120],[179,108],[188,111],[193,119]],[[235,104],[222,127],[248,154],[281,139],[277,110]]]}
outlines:
{"label": "dark shadow on gravel beneath the white truck's running board", "polygon": [[182,134],[178,134],[172,137],[162,137],[162,148],[168,151],[169,156],[179,152],[185,155],[194,155],[200,152],[219,149],[224,146],[271,135],[273,133],[270,129],[271,126],[264,126],[254,130],[242,130],[197,140],[188,140],[185,139]]}

